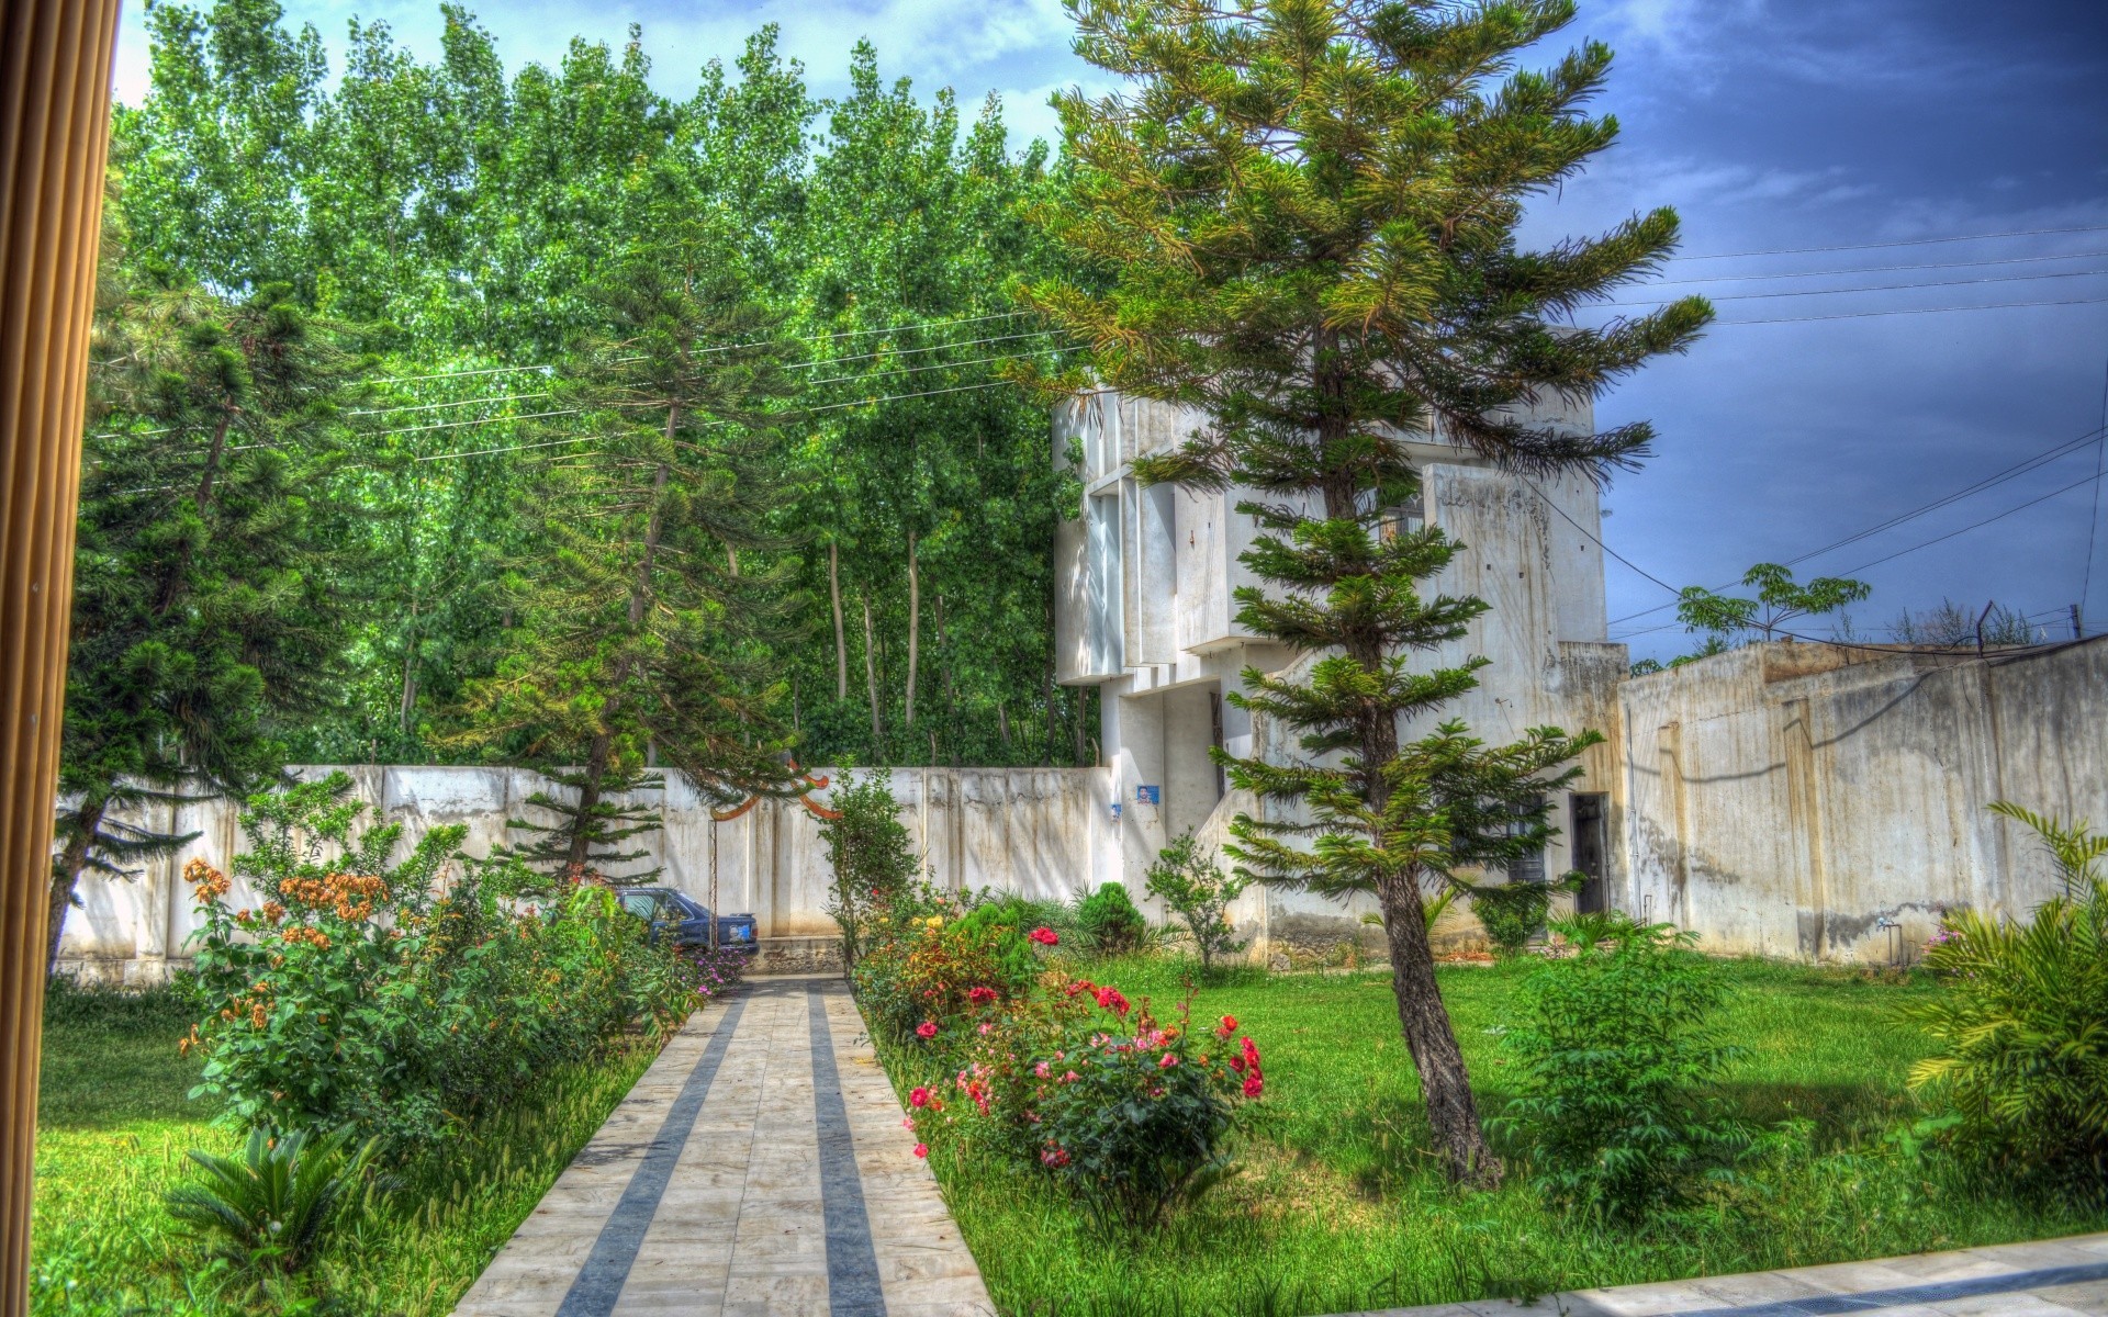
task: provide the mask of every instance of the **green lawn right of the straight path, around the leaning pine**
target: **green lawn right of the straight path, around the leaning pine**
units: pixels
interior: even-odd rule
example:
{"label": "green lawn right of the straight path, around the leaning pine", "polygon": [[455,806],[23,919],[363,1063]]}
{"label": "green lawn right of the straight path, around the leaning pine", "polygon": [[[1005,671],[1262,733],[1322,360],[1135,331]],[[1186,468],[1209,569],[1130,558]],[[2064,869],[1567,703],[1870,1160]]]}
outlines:
{"label": "green lawn right of the straight path, around the leaning pine", "polygon": [[[1092,965],[1159,1014],[1191,963]],[[1143,1237],[1105,1235],[1037,1174],[932,1155],[997,1306],[1018,1315],[1343,1313],[1391,1304],[1804,1266],[2108,1228],[2104,1216],[1982,1197],[1885,1136],[1918,1113],[1904,1087],[1922,1051],[1895,1018],[1931,990],[1842,971],[1722,963],[1726,1033],[1748,1054],[1729,1096],[1767,1125],[1796,1121],[1741,1186],[1642,1231],[1598,1231],[1511,1174],[1452,1191],[1427,1148],[1387,974],[1229,971],[1195,1018],[1231,1014],[1263,1049],[1240,1176]],[[1484,1115],[1505,1102],[1495,1030],[1522,967],[1442,971]],[[913,1060],[890,1056],[896,1083]],[[1514,1161],[1520,1148],[1503,1148]]]}

